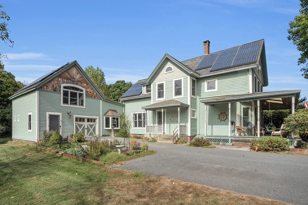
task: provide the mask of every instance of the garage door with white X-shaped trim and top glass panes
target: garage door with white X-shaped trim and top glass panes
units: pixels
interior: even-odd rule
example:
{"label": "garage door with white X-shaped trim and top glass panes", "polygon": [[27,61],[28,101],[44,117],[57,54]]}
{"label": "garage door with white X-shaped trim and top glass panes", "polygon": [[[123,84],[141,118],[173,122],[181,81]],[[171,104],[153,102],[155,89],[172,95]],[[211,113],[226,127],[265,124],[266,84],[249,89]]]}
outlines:
{"label": "garage door with white X-shaped trim and top glass panes", "polygon": [[83,132],[86,137],[95,136],[97,118],[75,117],[75,133]]}

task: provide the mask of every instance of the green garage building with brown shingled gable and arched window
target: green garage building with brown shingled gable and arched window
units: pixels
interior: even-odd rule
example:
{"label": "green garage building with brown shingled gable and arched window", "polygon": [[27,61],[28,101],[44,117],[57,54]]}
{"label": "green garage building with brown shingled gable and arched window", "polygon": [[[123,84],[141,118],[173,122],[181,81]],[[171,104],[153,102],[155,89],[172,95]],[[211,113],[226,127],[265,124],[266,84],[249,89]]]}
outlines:
{"label": "green garage building with brown shingled gable and arched window", "polygon": [[40,77],[10,97],[13,140],[36,142],[44,130],[86,137],[120,129],[124,104],[106,99],[77,61]]}

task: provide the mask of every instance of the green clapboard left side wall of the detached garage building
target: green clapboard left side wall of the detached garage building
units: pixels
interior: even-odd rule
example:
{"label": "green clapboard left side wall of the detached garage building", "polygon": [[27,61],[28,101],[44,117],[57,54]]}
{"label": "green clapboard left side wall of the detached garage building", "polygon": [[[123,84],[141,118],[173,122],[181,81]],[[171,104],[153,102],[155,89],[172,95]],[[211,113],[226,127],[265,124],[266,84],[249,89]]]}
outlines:
{"label": "green clapboard left side wall of the detached garage building", "polygon": [[[13,99],[13,139],[36,142],[36,92]],[[32,113],[32,132],[28,132],[28,113]],[[19,122],[17,116],[19,115]],[[16,116],[16,122],[14,121]]]}

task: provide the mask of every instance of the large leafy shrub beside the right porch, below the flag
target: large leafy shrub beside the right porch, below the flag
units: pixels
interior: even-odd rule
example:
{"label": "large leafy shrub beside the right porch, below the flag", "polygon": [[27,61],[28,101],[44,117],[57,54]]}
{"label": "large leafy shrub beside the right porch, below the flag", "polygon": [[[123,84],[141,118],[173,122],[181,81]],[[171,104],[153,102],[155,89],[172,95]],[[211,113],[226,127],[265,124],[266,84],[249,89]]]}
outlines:
{"label": "large leafy shrub beside the right porch, below the flag", "polygon": [[295,132],[303,141],[308,141],[308,109],[299,109],[286,117],[285,130]]}

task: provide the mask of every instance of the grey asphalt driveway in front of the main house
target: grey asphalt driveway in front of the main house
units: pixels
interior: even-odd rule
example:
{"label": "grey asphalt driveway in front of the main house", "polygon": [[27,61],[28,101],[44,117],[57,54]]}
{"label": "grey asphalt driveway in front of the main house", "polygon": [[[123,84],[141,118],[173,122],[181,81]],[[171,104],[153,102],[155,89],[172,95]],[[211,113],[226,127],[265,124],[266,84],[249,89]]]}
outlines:
{"label": "grey asphalt driveway in front of the main house", "polygon": [[129,160],[129,164],[120,168],[287,203],[308,204],[307,156],[157,142],[148,146],[157,154]]}

